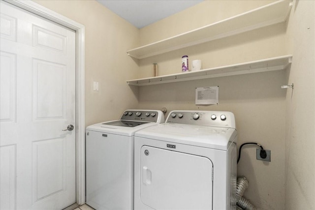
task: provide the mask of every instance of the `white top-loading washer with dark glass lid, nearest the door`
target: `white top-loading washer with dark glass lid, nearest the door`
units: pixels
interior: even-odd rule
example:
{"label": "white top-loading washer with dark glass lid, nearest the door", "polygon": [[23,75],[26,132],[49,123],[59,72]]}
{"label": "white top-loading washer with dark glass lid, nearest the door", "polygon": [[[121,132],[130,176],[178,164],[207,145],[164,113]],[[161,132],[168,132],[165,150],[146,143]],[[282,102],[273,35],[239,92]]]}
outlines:
{"label": "white top-loading washer with dark glass lid, nearest the door", "polygon": [[159,110],[126,110],[86,129],[86,202],[96,210],[133,210],[134,133],[164,122]]}

